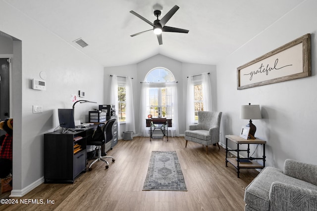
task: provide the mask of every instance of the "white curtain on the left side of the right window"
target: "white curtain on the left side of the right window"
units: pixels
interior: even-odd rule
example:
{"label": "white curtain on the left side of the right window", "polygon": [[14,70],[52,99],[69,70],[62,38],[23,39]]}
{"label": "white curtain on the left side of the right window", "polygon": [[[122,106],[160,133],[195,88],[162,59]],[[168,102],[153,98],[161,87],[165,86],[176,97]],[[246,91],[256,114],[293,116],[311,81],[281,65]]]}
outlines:
{"label": "white curtain on the left side of the right window", "polygon": [[187,116],[186,116],[186,129],[195,122],[195,106],[194,106],[194,80],[193,76],[187,79]]}

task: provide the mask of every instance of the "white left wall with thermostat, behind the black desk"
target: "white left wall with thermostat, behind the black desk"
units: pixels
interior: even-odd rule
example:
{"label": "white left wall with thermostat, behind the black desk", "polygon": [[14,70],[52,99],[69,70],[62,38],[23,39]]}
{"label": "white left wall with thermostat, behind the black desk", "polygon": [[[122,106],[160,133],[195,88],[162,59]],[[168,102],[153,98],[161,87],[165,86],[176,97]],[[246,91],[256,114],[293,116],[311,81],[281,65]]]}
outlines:
{"label": "white left wall with thermostat, behind the black desk", "polygon": [[[57,108],[72,108],[70,97],[78,94],[78,90],[85,91],[84,99],[104,103],[104,70],[74,46],[2,0],[0,20],[5,20],[0,23],[0,31],[21,41],[11,43],[14,119],[12,193],[17,196],[28,192],[32,184],[43,181],[43,134],[58,126]],[[46,91],[31,88],[31,80],[40,79],[41,71],[47,73]],[[43,113],[33,114],[32,105],[42,105]],[[88,121],[87,111],[94,107],[97,107],[96,104],[76,104],[75,119]]]}

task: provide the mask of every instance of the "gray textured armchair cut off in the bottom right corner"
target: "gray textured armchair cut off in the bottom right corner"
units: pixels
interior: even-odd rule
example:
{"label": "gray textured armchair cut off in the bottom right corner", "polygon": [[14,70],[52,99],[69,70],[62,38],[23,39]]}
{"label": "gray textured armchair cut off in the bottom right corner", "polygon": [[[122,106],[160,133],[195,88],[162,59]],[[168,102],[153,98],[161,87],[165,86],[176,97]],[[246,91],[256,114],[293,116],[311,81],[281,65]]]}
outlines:
{"label": "gray textured armchair cut off in the bottom right corner", "polygon": [[317,166],[287,159],[265,167],[246,187],[245,211],[317,211]]}

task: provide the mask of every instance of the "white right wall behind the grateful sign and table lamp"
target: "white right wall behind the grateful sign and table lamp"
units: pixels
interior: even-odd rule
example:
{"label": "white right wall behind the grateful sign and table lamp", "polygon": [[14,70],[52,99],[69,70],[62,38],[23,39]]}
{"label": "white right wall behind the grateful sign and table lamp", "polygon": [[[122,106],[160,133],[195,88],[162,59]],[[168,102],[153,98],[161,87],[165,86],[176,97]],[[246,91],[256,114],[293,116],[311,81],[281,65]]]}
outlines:
{"label": "white right wall behind the grateful sign and table lamp", "polygon": [[[239,119],[241,105],[260,104],[263,119],[253,123],[256,136],[267,141],[267,166],[282,169],[287,158],[317,164],[316,8],[317,1],[304,1],[217,65],[221,142],[225,144],[225,134],[238,134],[248,124]],[[237,90],[237,67],[307,33],[312,34],[311,77]],[[262,152],[259,147],[256,154]]]}

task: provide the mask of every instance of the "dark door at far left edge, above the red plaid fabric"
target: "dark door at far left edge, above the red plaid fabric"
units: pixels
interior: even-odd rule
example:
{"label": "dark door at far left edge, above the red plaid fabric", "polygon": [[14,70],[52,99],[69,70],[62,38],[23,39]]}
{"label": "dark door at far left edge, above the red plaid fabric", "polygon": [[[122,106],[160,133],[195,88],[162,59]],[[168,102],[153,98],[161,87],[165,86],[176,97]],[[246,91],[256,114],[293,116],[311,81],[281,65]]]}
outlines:
{"label": "dark door at far left edge, above the red plaid fabric", "polygon": [[[10,114],[10,73],[9,58],[0,58],[0,121],[5,120]],[[0,130],[0,135],[5,131]]]}

